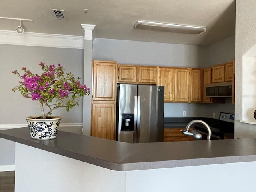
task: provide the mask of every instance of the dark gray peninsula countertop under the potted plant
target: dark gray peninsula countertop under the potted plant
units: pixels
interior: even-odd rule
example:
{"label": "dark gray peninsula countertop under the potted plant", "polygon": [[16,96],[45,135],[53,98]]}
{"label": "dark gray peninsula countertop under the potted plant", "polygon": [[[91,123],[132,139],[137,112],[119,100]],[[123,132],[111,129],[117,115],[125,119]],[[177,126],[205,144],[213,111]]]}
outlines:
{"label": "dark gray peninsula countertop under the potted plant", "polygon": [[256,138],[130,144],[58,131],[55,139],[35,140],[28,127],[2,130],[0,136],[117,171],[256,161]]}

